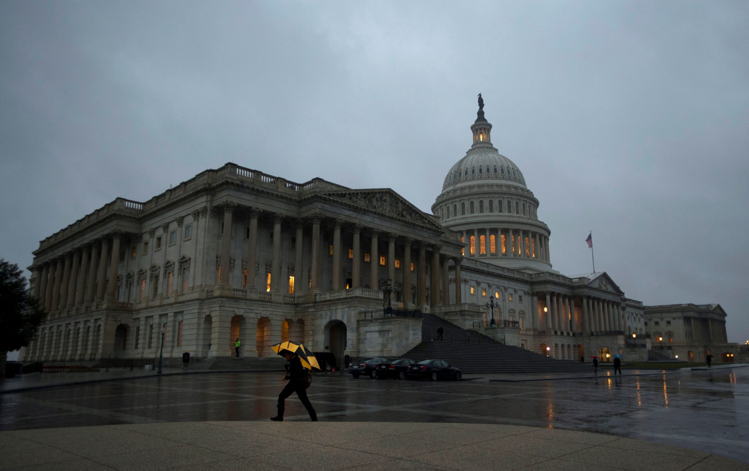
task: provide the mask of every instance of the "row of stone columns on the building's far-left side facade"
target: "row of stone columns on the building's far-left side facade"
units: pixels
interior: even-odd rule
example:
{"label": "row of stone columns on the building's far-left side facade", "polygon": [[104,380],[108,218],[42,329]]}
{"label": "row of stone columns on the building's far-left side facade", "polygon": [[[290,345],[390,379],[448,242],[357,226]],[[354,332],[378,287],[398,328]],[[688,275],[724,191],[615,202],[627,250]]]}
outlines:
{"label": "row of stone columns on the building's far-left side facade", "polygon": [[[37,265],[34,268],[32,292],[40,300],[44,310],[81,310],[91,307],[94,302],[116,300],[122,235],[121,232],[112,232],[99,241],[76,247],[58,258]],[[107,283],[107,279],[114,281]]]}

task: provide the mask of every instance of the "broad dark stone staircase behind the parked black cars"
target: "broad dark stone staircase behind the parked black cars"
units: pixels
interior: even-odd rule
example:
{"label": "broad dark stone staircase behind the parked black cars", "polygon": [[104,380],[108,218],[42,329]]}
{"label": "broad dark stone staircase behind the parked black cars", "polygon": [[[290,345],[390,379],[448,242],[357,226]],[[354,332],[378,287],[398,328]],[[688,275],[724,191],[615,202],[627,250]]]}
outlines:
{"label": "broad dark stone staircase behind the parked black cars", "polygon": [[[461,329],[434,314],[422,314],[422,342],[403,358],[443,359],[463,374],[476,373],[559,373],[586,372],[590,363],[553,359],[520,347],[503,345],[475,330]],[[437,327],[444,329],[437,341]]]}

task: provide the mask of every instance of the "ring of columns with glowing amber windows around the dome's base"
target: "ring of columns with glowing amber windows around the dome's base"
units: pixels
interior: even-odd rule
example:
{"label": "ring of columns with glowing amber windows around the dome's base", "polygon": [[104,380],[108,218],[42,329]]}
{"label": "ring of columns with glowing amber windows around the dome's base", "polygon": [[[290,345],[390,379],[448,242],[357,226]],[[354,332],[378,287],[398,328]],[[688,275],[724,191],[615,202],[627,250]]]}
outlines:
{"label": "ring of columns with glowing amber windows around the dome's base", "polygon": [[[464,229],[463,240],[470,257],[501,255],[550,261],[546,234],[521,228]],[[471,239],[473,237],[473,240]]]}

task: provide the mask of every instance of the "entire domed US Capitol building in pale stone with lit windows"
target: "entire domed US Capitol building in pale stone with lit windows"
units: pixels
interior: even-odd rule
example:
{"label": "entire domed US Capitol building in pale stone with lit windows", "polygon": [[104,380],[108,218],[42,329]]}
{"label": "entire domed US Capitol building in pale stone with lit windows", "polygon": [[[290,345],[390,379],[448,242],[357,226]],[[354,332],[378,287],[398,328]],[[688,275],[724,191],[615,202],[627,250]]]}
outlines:
{"label": "entire domed US Capitol building in pale stone with lit windows", "polygon": [[21,359],[154,358],[162,335],[173,363],[233,356],[237,338],[243,357],[287,339],[337,358],[399,356],[422,341],[414,312],[558,359],[738,349],[717,304],[643,306],[607,273],[553,270],[539,200],[491,144],[480,99],[470,129],[431,214],[392,189],[234,163],[105,204],[34,251],[31,290],[49,314]]}

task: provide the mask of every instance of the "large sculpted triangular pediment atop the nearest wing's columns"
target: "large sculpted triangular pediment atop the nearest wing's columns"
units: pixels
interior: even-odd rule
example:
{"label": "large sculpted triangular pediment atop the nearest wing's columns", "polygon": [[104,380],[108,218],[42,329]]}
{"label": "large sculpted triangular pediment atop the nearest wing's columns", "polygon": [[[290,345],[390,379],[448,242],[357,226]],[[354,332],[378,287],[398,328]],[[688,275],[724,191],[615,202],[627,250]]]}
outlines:
{"label": "large sculpted triangular pediment atop the nearest wing's columns", "polygon": [[324,192],[324,196],[339,201],[345,201],[357,207],[363,207],[366,210],[384,213],[387,216],[396,219],[402,219],[407,222],[425,225],[435,231],[445,231],[428,214],[425,214],[418,207],[411,204],[406,198],[389,188],[383,189],[353,189],[336,192]]}

